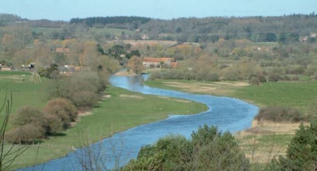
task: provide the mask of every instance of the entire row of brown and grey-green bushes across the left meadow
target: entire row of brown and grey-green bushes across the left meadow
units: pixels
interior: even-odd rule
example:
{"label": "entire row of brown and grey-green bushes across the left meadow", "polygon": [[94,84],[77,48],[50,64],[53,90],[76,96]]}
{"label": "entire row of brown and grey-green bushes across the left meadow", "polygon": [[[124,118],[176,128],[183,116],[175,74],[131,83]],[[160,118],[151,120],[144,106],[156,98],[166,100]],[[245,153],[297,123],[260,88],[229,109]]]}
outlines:
{"label": "entire row of brown and grey-green bushes across the left meadow", "polygon": [[48,104],[42,110],[31,106],[20,108],[9,141],[34,143],[67,129],[76,121],[77,111],[88,111],[97,105],[108,77],[108,70],[102,68],[96,71],[84,68],[71,75],[53,71],[46,85]]}

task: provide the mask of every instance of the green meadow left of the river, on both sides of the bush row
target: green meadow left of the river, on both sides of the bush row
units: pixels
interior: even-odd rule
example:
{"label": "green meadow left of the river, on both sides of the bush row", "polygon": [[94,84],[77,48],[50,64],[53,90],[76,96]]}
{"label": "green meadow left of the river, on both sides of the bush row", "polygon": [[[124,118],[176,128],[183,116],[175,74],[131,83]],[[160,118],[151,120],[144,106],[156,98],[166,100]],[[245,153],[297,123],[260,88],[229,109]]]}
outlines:
{"label": "green meadow left of the river, on both sides of the bush row", "polygon": [[[11,74],[11,78],[4,76],[8,74],[0,72],[0,84],[12,79],[14,74]],[[42,79],[42,83],[35,84],[29,81],[29,76],[21,76],[20,74],[13,76],[14,82],[8,88],[9,91],[14,92],[15,106],[13,113],[20,106],[26,104],[43,107],[46,102],[41,100],[45,92],[42,86],[46,80]],[[104,137],[111,136],[112,133],[165,119],[168,114],[194,114],[207,110],[207,106],[192,101],[182,101],[174,98],[162,99],[157,96],[133,93],[115,87],[108,88],[105,93],[110,94],[111,98],[101,101],[97,107],[93,108],[92,115],[82,116],[80,121],[74,124],[72,128],[61,132],[58,136],[51,136],[49,139],[43,140],[39,144],[38,154],[38,146],[31,145],[15,161],[15,168],[66,155],[71,151],[71,146],[75,146],[78,141],[78,130],[84,130],[90,135],[91,141],[96,142]],[[0,98],[3,97],[2,92]],[[9,145],[7,146],[9,147]]]}

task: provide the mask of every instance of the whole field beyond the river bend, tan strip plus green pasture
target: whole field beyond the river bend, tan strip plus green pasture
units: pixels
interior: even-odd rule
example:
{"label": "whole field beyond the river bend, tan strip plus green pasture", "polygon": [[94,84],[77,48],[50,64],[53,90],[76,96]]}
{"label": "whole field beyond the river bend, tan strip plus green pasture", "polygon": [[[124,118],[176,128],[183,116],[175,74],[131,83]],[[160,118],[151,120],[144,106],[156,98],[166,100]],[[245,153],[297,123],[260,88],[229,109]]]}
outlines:
{"label": "whole field beyond the river bend, tan strip plus green pasture", "polygon": [[265,82],[250,85],[243,81],[147,80],[146,85],[189,93],[228,96],[258,106],[276,105],[305,110],[317,98],[317,81]]}

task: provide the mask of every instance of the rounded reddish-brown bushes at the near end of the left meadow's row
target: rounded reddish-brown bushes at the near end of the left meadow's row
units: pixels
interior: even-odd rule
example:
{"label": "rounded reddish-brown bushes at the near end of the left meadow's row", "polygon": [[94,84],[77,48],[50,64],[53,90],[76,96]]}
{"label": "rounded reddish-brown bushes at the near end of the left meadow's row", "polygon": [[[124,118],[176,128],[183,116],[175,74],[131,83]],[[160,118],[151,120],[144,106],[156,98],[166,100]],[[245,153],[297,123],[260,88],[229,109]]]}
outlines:
{"label": "rounded reddish-brown bushes at the near end of the left meadow's row", "polygon": [[76,107],[66,99],[53,99],[41,111],[25,106],[18,110],[9,134],[9,142],[30,143],[47,135],[66,129],[77,117]]}

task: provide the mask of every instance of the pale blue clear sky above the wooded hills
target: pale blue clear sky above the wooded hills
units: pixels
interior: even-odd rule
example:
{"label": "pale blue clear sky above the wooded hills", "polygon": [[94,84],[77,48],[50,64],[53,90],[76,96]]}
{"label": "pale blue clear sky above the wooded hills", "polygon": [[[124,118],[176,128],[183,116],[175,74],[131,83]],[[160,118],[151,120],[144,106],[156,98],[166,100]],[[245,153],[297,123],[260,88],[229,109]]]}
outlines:
{"label": "pale blue clear sky above the wooded hills", "polygon": [[0,0],[0,13],[28,19],[68,21],[75,17],[282,16],[317,13],[317,0]]}

